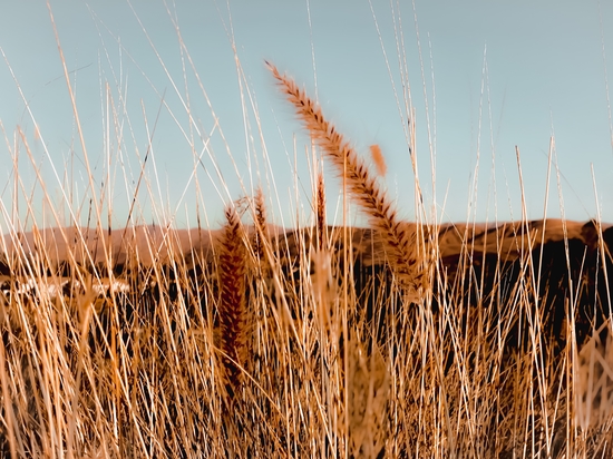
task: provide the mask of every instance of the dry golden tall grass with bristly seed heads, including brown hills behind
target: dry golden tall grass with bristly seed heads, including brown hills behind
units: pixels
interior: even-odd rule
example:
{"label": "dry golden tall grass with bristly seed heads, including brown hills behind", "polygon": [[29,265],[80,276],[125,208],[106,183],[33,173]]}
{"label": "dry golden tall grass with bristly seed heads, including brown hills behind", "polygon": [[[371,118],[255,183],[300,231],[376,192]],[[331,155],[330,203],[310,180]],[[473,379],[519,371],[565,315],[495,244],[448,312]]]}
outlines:
{"label": "dry golden tall grass with bristly seed heads, including brown hills behind", "polygon": [[214,231],[103,230],[96,207],[94,228],[25,234],[2,206],[2,455],[611,455],[609,230],[403,222],[269,69],[370,227],[328,224],[317,164],[314,225],[293,231],[260,188]]}

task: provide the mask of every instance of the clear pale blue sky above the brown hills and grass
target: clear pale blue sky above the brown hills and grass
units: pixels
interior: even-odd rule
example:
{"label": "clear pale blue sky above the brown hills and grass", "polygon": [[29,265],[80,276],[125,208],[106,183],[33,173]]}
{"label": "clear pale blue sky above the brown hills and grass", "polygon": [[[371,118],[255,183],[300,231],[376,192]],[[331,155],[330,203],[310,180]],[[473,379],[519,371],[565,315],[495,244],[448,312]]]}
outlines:
{"label": "clear pale blue sky above the brown hills and grass", "polygon": [[[402,218],[613,223],[610,2],[49,7],[1,7],[3,232],[35,221],[218,227],[224,206],[257,186],[274,223],[311,224],[322,153],[265,61],[304,87],[367,163],[379,145],[379,182]],[[328,216],[340,223],[342,182],[323,168]],[[356,207],[348,218],[366,224]]]}

